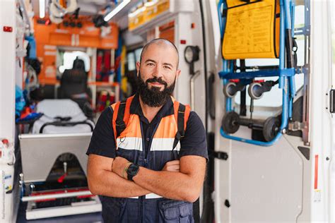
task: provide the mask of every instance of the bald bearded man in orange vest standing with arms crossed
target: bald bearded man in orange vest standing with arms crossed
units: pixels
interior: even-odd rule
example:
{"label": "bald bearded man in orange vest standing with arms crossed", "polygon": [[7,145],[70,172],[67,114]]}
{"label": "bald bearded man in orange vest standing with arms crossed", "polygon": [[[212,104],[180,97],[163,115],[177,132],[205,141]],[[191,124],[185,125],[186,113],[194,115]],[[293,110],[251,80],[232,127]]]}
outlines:
{"label": "bald bearded man in orange vest standing with arms crossed", "polygon": [[201,119],[172,97],[179,56],[155,39],[136,63],[136,95],[98,119],[88,147],[88,186],[104,222],[194,222],[208,160]]}

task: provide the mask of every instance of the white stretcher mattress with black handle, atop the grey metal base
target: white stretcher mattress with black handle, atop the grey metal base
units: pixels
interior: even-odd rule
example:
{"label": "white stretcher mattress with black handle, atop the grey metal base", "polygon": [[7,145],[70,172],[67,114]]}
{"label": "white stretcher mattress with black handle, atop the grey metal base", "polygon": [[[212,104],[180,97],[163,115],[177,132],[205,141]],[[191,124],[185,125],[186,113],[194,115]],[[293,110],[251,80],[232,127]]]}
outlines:
{"label": "white stretcher mattress with black handle, atop the grey metal base", "polygon": [[94,128],[93,121],[72,100],[42,100],[37,104],[37,112],[44,115],[35,121],[33,134],[90,133]]}

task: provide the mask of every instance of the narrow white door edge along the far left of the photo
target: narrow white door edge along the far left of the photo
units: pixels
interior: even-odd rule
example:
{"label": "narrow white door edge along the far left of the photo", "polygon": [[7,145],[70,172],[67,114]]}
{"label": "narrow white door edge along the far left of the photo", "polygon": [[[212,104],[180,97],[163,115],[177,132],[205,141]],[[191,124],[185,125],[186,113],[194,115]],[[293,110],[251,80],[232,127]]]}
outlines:
{"label": "narrow white door edge along the far left of the photo", "polygon": [[[7,157],[0,157],[0,222],[16,222],[13,205],[14,166],[8,165],[13,158],[15,129],[15,69],[16,69],[16,1],[0,1],[0,139],[6,138],[9,147]],[[7,27],[7,28],[5,28]],[[8,30],[8,32],[5,32]],[[9,151],[9,152],[8,152]],[[2,153],[2,152],[1,152]]]}

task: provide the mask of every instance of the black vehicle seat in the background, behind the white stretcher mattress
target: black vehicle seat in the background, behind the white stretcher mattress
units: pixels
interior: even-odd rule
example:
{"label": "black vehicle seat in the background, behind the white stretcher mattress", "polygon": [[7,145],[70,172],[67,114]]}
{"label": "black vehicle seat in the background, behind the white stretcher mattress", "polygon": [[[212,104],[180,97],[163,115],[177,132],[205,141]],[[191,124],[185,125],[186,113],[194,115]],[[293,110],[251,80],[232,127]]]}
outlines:
{"label": "black vehicle seat in the background, behind the white stretcher mattress", "polygon": [[72,69],[66,69],[61,76],[58,98],[71,99],[79,104],[86,116],[90,117],[93,109],[90,107],[92,92],[88,88],[88,73],[83,60],[74,60]]}

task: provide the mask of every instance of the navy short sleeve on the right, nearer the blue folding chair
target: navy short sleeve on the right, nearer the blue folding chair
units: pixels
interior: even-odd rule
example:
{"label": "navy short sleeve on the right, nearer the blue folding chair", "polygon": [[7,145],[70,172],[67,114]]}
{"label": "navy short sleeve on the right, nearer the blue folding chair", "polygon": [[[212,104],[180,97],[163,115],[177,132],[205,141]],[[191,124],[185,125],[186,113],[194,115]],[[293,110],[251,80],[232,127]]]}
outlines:
{"label": "navy short sleeve on the right, nearer the blue folding chair", "polygon": [[180,157],[197,155],[208,161],[207,140],[204,124],[200,117],[191,111],[184,138],[180,140]]}

